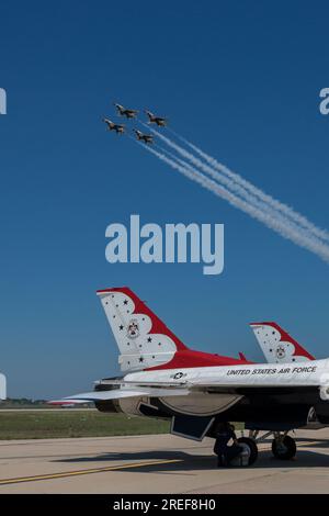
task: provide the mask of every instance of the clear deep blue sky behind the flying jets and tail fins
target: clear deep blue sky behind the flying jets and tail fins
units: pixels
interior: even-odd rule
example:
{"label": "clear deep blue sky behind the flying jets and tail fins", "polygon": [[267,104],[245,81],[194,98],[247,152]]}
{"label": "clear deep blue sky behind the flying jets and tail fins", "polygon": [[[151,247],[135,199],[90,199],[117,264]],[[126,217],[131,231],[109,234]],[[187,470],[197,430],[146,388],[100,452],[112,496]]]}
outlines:
{"label": "clear deep blue sky behind the flying jets and tail fins", "polygon": [[[206,152],[329,227],[328,2],[1,4],[0,370],[52,397],[117,372],[95,290],[129,285],[191,347],[254,360],[274,319],[329,355],[328,266],[106,133],[113,100],[166,114]],[[110,265],[105,227],[224,223],[225,271]]]}

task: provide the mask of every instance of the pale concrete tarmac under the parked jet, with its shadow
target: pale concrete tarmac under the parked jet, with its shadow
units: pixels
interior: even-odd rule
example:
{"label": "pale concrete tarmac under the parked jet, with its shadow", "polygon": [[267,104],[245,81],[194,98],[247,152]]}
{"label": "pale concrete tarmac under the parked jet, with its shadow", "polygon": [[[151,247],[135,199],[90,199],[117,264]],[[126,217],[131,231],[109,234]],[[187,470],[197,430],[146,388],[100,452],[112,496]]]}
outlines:
{"label": "pale concrete tarmac under the parked jet, with its shadow", "polygon": [[213,439],[170,435],[0,441],[1,493],[329,493],[329,428],[298,430],[295,460],[271,441],[249,468],[216,468]]}

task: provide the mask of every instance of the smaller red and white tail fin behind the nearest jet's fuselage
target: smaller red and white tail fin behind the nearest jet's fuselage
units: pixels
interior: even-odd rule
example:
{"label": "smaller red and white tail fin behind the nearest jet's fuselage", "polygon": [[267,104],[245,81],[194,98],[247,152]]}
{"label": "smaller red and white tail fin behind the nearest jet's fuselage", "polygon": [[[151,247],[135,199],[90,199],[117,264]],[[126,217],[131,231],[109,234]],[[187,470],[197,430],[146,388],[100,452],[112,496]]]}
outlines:
{"label": "smaller red and white tail fin behind the nearest jet's fuselage", "polygon": [[288,363],[315,360],[287,332],[276,323],[250,324],[268,362]]}

